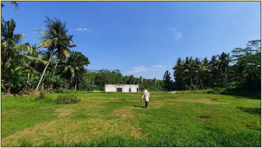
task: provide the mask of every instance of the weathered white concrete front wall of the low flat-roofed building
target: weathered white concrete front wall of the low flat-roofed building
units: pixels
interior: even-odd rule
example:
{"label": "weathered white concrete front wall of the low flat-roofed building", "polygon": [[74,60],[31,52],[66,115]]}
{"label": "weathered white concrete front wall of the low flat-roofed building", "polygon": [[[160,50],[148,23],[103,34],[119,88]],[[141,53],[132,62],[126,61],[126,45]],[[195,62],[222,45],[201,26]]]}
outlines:
{"label": "weathered white concrete front wall of the low flat-roofed building", "polygon": [[131,92],[137,92],[139,85],[105,85],[105,92],[117,92],[117,88],[122,88],[124,93],[128,93],[129,88],[131,88]]}

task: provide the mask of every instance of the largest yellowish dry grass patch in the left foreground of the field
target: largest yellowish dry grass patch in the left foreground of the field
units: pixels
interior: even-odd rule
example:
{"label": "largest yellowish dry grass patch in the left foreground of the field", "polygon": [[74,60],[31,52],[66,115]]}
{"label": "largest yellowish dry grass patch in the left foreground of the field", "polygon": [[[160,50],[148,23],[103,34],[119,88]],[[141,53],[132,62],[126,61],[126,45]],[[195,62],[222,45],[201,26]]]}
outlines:
{"label": "largest yellowish dry grass patch in the left foreground of the field", "polygon": [[100,136],[124,135],[126,138],[146,138],[139,128],[121,120],[102,119],[58,119],[39,123],[23,131],[2,138],[2,146],[19,146],[27,140],[33,146],[52,142],[59,144],[90,142]]}

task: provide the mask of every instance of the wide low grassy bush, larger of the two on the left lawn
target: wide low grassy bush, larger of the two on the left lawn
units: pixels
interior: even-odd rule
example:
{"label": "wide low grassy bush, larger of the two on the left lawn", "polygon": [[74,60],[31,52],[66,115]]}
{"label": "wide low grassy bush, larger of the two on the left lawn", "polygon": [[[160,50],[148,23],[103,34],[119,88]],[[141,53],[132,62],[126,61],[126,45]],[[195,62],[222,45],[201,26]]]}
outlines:
{"label": "wide low grassy bush, larger of the two on the left lawn", "polygon": [[65,94],[57,96],[55,103],[56,104],[71,104],[71,103],[78,103],[81,99],[77,98],[77,95],[74,94]]}

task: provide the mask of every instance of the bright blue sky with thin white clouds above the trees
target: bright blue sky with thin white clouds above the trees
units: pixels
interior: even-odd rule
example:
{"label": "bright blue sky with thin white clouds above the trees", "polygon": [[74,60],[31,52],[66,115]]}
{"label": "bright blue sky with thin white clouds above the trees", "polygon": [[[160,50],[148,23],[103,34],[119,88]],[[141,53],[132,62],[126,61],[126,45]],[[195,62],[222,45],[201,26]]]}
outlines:
{"label": "bright blue sky with thin white clouds above the trees", "polygon": [[[67,22],[73,50],[88,69],[162,79],[178,57],[210,57],[260,39],[260,2],[2,2],[2,17],[13,18],[24,42],[40,34],[45,16]],[[172,76],[173,77],[173,76]]]}

